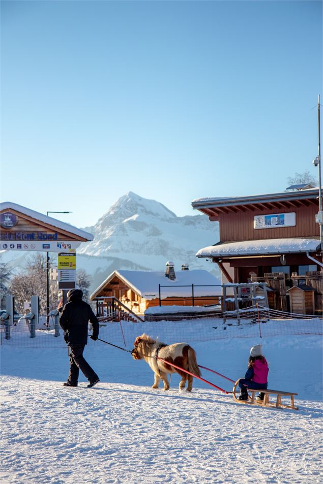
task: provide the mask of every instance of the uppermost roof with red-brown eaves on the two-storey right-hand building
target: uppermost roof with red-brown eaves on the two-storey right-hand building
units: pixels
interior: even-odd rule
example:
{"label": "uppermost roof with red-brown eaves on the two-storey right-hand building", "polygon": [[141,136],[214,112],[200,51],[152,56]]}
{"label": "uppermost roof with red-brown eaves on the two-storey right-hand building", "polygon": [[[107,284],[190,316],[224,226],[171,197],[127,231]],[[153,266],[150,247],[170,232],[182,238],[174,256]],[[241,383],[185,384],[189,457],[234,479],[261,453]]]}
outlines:
{"label": "uppermost roof with red-brown eaves on the two-storey right-hand building", "polygon": [[293,210],[310,205],[318,205],[318,188],[249,197],[201,198],[192,202],[193,209],[205,213],[210,220],[218,220],[220,214]]}

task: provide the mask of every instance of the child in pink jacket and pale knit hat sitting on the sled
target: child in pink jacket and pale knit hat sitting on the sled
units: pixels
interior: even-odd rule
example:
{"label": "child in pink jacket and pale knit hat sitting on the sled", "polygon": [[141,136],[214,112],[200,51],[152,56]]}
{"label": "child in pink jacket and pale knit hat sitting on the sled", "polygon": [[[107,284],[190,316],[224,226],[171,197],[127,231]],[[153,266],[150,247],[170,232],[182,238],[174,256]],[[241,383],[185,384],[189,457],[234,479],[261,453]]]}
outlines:
{"label": "child in pink jacket and pale knit hat sitting on the sled", "polygon": [[[256,344],[250,349],[248,360],[248,370],[244,378],[240,378],[240,397],[239,400],[248,400],[247,388],[254,390],[266,390],[268,386],[268,364],[266,358],[262,355],[262,344]],[[257,401],[262,401],[265,394],[260,392]]]}

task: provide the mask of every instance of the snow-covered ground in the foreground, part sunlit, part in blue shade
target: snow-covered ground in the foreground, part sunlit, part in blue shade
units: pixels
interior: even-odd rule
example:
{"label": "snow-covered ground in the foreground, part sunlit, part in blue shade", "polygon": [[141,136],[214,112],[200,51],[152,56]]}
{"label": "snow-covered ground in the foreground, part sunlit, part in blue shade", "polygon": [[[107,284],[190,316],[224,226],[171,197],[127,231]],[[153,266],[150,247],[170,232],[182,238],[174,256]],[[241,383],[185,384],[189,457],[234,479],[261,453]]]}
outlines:
{"label": "snow-covered ground in the foreground, part sunlit, part in blue shade", "polygon": [[[127,335],[126,335],[127,337]],[[259,338],[195,342],[200,365],[244,376]],[[167,341],[170,342],[170,341]],[[91,341],[101,382],[64,388],[66,348],[2,346],[0,481],[27,483],[311,483],[323,479],[322,339],[262,338],[271,388],[299,393],[299,411],[233,402],[194,380],[191,394],[153,390],[153,373],[129,353]],[[227,391],[231,383],[203,371]]]}

